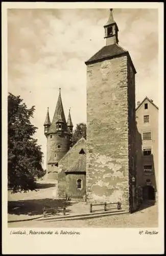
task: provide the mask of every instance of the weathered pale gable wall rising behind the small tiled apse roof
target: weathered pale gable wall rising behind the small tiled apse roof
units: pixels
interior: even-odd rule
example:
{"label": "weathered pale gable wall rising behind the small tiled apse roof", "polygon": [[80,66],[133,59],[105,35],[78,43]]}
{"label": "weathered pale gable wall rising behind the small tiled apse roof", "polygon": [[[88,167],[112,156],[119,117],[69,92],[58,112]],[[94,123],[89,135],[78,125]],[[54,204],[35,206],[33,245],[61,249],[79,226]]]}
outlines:
{"label": "weathered pale gable wall rising behind the small tiled apse roof", "polygon": [[86,148],[86,140],[81,139],[76,143],[58,163],[58,197],[65,198],[65,170],[70,168],[79,158],[81,148]]}

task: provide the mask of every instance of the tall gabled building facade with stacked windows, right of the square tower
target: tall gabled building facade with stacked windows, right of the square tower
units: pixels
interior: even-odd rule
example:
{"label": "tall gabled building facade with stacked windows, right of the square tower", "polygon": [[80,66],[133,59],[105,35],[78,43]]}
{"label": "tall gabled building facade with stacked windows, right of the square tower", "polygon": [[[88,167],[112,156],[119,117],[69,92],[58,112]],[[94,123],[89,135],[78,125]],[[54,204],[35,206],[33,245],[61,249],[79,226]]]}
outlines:
{"label": "tall gabled building facade with stacked windows, right of the square tower", "polygon": [[136,108],[136,165],[140,201],[157,201],[158,107],[146,97]]}

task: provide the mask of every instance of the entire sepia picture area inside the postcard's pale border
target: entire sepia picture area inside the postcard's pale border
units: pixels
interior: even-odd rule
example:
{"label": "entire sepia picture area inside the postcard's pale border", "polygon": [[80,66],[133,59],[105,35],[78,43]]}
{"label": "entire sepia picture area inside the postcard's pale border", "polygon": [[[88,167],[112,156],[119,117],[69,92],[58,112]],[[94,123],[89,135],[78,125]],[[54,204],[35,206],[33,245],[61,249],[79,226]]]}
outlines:
{"label": "entire sepia picture area inside the postcard's pale border", "polygon": [[10,232],[157,235],[158,8],[15,7],[6,26]]}

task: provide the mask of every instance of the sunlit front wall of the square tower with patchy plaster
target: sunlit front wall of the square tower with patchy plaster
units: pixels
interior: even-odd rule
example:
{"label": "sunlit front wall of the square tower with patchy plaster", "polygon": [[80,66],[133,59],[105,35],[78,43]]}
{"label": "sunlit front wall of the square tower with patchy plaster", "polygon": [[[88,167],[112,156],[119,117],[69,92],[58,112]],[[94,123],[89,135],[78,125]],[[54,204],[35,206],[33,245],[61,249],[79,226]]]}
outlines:
{"label": "sunlit front wall of the square tower with patchy plaster", "polygon": [[86,197],[129,210],[127,70],[127,56],[87,66]]}

